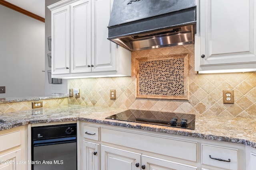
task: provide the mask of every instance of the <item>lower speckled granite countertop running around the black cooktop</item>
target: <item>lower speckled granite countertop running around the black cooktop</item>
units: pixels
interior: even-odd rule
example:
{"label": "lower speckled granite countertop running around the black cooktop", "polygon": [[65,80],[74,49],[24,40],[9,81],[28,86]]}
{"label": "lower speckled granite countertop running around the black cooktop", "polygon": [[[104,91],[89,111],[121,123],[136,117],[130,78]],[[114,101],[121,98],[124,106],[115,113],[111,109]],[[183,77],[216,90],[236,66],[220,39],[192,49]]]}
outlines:
{"label": "lower speckled granite countertop running around the black cooktop", "polygon": [[105,119],[105,117],[124,110],[126,109],[67,105],[3,113],[0,114],[0,130],[27,125],[29,123],[80,120],[160,133],[239,143],[256,148],[256,120],[216,116],[196,116],[196,128],[194,130],[190,130]]}

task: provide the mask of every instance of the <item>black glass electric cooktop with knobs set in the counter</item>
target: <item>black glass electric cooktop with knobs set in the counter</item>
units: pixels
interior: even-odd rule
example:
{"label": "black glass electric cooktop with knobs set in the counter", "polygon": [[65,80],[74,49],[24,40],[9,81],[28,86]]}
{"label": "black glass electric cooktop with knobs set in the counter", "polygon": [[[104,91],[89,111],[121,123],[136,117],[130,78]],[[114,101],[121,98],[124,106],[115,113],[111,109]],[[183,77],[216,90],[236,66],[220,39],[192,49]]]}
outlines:
{"label": "black glass electric cooktop with knobs set in the counter", "polygon": [[162,125],[184,129],[195,129],[196,115],[129,109],[106,117],[106,119],[148,123],[152,125]]}

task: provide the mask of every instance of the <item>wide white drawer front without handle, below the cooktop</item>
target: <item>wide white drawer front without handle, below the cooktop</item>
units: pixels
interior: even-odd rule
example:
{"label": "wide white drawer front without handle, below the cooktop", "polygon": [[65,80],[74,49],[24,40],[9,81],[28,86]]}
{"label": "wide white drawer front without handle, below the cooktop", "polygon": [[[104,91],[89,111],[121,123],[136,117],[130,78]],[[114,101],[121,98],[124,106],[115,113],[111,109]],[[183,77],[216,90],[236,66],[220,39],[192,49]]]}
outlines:
{"label": "wide white drawer front without handle, below the cooktop", "polygon": [[142,135],[113,129],[101,129],[102,142],[159,153],[166,156],[197,161],[197,143]]}

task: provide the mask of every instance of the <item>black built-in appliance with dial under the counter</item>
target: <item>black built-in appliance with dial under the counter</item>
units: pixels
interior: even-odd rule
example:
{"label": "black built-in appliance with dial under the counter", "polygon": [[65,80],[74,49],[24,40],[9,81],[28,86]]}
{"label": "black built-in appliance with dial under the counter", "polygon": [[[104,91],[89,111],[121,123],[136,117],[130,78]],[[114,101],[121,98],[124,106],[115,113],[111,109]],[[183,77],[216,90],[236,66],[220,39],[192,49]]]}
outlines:
{"label": "black built-in appliance with dial under the counter", "polygon": [[76,170],[76,123],[32,127],[32,170]]}

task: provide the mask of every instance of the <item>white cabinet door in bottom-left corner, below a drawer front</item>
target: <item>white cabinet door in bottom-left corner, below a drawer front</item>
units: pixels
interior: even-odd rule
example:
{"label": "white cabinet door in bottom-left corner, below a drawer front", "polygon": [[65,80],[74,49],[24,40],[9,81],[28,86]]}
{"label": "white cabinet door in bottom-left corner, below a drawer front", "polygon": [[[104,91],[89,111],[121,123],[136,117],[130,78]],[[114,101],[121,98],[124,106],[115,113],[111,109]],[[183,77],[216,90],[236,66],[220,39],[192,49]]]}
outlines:
{"label": "white cabinet door in bottom-left corner, below a drawer front", "polygon": [[3,161],[3,163],[0,163],[0,170],[21,170],[22,164],[25,164],[21,160],[21,150],[0,156],[0,160]]}

